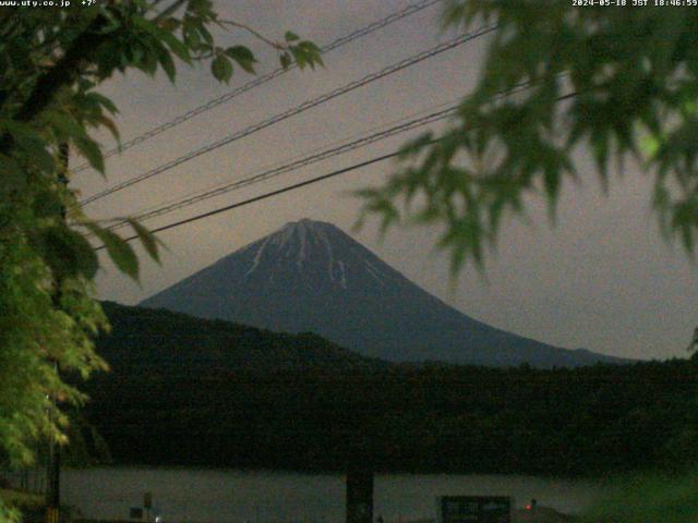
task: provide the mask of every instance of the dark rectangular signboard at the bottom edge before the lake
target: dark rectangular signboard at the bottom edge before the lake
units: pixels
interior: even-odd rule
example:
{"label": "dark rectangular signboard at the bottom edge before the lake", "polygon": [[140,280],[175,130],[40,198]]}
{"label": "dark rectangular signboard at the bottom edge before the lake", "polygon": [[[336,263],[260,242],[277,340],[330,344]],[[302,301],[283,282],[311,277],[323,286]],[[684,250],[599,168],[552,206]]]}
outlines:
{"label": "dark rectangular signboard at the bottom edge before the lake", "polygon": [[438,523],[510,523],[507,496],[442,496],[436,502]]}

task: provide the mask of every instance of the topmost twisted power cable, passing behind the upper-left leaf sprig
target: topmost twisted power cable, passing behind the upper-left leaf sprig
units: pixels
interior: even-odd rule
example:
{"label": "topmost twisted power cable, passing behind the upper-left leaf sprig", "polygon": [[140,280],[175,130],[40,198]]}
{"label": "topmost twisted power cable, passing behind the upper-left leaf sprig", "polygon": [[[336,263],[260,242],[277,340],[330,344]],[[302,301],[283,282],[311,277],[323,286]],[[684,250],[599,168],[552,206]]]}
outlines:
{"label": "topmost twisted power cable, passing behind the upper-left leaf sprig", "polygon": [[[375,33],[378,29],[382,29],[383,27],[386,27],[399,20],[402,20],[407,16],[410,16],[414,13],[418,13],[435,3],[442,2],[443,0],[422,0],[420,2],[417,3],[412,3],[410,5],[407,5],[405,9],[397,11],[395,13],[389,14],[388,16],[381,19],[378,21],[375,21],[364,27],[361,27],[360,29],[357,29],[352,33],[349,33],[348,35],[341,36],[339,38],[337,38],[336,40],[332,41],[330,44],[323,46],[321,48],[321,53],[322,54],[326,54],[329,51],[334,51],[335,49],[338,49],[342,46],[346,46],[347,44],[350,44],[354,40],[358,40],[360,38],[363,38],[364,36],[370,35],[371,33]],[[183,114],[180,114],[176,118],[173,118],[172,120],[169,120],[156,127],[153,127],[149,131],[146,131],[143,134],[140,134],[137,136],[134,136],[133,138],[129,139],[128,142],[121,144],[118,147],[113,147],[109,150],[107,150],[104,154],[105,159],[109,158],[118,153],[123,153],[127,149],[130,149],[131,147],[134,147],[139,144],[142,144],[143,142],[146,142],[155,136],[157,136],[158,134],[164,133],[165,131],[176,127],[177,125],[180,125],[182,123],[184,123],[188,120],[191,120],[194,117],[197,117],[198,114],[202,114],[204,112],[207,112],[209,110],[212,110],[215,107],[220,106],[221,104],[225,104],[233,98],[236,98],[239,95],[242,95],[243,93],[246,93],[248,90],[251,90],[255,87],[258,87],[260,85],[266,84],[267,82],[270,82],[272,80],[287,73],[288,71],[291,71],[292,69],[296,69],[298,65],[293,62],[291,65],[289,65],[287,69],[285,68],[278,68],[275,69],[274,71],[266,73],[262,76],[258,76],[257,78],[248,82],[246,84],[232,89],[229,93],[226,93],[225,95],[219,96],[218,98],[214,98],[213,100],[207,101],[206,104],[202,104],[198,107],[195,107],[194,109],[191,109],[189,111],[186,111]],[[76,167],[75,169],[72,169],[73,173],[77,173],[81,171],[84,171],[85,169],[87,169],[89,167],[89,163],[83,163],[79,167]]]}

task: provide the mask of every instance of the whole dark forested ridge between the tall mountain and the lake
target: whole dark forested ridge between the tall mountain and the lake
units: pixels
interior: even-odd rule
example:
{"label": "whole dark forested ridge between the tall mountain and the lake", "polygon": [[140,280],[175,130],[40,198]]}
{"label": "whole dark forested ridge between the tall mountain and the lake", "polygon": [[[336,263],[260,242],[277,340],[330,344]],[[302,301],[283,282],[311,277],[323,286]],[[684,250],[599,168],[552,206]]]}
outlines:
{"label": "whole dark forested ridge between the tall mountain and the lake", "polygon": [[118,463],[575,476],[698,457],[689,361],[393,365],[314,336],[105,308],[112,372],[89,381],[87,415]]}

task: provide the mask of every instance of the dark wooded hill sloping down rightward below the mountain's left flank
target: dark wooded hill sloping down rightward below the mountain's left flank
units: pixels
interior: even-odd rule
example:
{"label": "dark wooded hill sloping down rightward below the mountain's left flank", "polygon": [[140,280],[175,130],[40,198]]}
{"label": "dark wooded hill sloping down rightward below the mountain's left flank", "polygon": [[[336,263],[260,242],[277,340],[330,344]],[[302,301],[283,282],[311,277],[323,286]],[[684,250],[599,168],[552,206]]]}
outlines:
{"label": "dark wooded hill sloping down rightward below the mountain's left flank", "polygon": [[316,335],[269,332],[221,320],[194,318],[104,302],[111,324],[97,351],[116,375],[168,378],[288,370],[342,373],[389,364],[341,349]]}

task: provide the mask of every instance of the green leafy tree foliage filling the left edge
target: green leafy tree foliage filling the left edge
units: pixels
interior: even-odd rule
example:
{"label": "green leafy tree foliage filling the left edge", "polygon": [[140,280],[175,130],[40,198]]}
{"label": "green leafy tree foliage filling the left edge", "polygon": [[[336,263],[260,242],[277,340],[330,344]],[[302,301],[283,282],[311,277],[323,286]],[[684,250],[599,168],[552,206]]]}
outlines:
{"label": "green leafy tree foliage filling the left edge", "polygon": [[[117,107],[97,89],[115,73],[133,69],[149,75],[163,71],[174,81],[177,62],[210,60],[213,75],[225,82],[233,73],[230,60],[253,73],[252,50],[216,46],[213,25],[221,24],[209,0],[97,2],[89,9],[23,10],[21,16],[14,9],[0,11],[3,460],[31,462],[34,443],[47,436],[64,441],[61,404],[85,399],[64,378],[107,368],[92,341],[108,324],[92,299],[99,259],[88,234],[104,243],[119,270],[139,277],[131,245],[89,220],[70,186],[70,151],[104,173],[93,134],[107,129],[119,139],[111,119]],[[299,64],[322,63],[314,45],[296,47],[301,45],[293,54]],[[157,260],[159,242],[140,223],[129,223]],[[0,521],[7,518],[0,514]]]}

